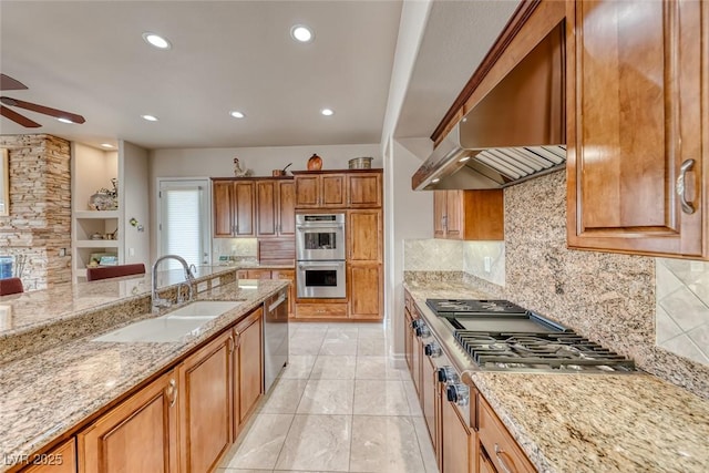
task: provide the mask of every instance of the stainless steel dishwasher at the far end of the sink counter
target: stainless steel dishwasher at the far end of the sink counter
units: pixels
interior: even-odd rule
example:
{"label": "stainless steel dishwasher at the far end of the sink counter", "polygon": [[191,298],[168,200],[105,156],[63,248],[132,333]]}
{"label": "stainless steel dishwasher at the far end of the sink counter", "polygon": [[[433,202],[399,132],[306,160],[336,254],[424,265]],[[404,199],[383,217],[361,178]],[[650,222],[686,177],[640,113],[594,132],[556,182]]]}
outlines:
{"label": "stainless steel dishwasher at the far end of the sink counter", "polygon": [[264,392],[288,362],[288,289],[266,300],[264,321]]}

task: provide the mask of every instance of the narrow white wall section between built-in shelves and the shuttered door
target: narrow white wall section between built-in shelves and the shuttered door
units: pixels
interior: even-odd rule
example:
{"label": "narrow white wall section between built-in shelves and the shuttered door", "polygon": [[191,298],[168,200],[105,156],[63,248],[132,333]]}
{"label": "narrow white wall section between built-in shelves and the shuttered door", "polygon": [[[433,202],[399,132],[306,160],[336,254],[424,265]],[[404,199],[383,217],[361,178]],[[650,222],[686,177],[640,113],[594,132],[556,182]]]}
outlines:
{"label": "narrow white wall section between built-in shelves and the shuttered door", "polygon": [[[121,213],[120,237],[123,246],[123,261],[125,264],[143,263],[150,268],[151,258],[151,212],[146,203],[151,202],[148,187],[148,154],[147,151],[121,141],[119,143],[119,195],[123,205]],[[131,226],[129,220],[135,218],[143,226],[143,232]]]}

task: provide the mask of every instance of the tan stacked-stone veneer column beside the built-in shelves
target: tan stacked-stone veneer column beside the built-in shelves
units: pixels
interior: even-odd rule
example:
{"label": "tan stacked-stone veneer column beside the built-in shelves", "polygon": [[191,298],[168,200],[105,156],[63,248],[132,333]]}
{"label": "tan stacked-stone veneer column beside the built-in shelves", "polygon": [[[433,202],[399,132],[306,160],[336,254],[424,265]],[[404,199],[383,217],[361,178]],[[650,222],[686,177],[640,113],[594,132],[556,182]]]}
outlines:
{"label": "tan stacked-stone veneer column beside the built-in shelves", "polygon": [[0,217],[0,254],[24,256],[25,290],[71,281],[71,144],[51,135],[4,135],[10,216]]}

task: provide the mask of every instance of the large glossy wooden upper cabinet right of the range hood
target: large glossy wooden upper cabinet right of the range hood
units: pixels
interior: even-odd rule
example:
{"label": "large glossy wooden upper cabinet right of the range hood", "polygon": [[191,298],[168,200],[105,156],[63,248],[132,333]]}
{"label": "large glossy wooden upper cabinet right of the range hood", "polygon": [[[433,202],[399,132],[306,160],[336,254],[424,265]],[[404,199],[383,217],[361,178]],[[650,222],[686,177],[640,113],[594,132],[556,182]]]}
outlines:
{"label": "large glossy wooden upper cabinet right of the range hood", "polygon": [[567,2],[569,247],[708,256],[708,11]]}

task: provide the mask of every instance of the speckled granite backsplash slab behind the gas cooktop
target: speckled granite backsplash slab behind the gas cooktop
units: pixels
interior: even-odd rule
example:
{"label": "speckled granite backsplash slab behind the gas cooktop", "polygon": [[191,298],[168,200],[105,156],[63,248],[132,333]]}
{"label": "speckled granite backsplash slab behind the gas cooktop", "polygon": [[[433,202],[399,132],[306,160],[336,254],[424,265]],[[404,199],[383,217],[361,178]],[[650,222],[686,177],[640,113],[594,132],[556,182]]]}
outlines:
{"label": "speckled granite backsplash slab behind the gas cooktop", "polygon": [[[674,273],[679,280],[690,278],[691,264],[697,268],[696,261],[684,261],[688,268],[670,261],[669,266],[684,268]],[[658,274],[661,277],[665,270]],[[709,367],[656,346],[655,258],[566,247],[563,172],[505,189],[505,276],[507,299],[631,357],[643,370],[709,398]],[[700,278],[690,278],[689,284],[701,285]],[[670,287],[678,287],[677,282]],[[703,335],[695,333],[698,339]],[[692,347],[698,348],[697,342]]]}

